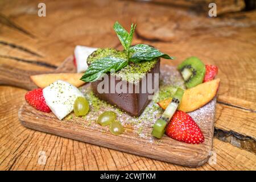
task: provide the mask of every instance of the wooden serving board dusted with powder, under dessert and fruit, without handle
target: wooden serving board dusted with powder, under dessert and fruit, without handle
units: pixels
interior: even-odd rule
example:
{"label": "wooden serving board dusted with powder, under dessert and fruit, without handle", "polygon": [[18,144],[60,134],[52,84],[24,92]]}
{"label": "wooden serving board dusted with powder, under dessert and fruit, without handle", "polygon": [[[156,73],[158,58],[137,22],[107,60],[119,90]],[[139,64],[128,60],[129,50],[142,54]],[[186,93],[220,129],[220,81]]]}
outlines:
{"label": "wooden serving board dusted with powder, under dessert and fruit, without handle", "polygon": [[[72,56],[68,57],[55,72],[75,72]],[[30,84],[33,88],[33,83]],[[182,166],[201,166],[208,161],[212,150],[216,98],[204,107],[189,113],[203,131],[204,143],[187,144],[166,135],[162,139],[156,139],[151,136],[152,125],[163,112],[156,101],[162,97],[162,92],[172,92],[170,85],[184,86],[176,68],[163,64],[160,68],[159,94],[155,94],[154,100],[138,118],[130,117],[116,107],[98,100],[92,94],[88,83],[80,88],[90,103],[89,113],[85,117],[75,117],[71,113],[59,121],[53,113],[43,113],[25,102],[19,109],[19,119],[23,126],[30,129]],[[114,136],[108,127],[97,124],[98,115],[106,110],[117,112],[118,120],[125,127],[123,134]]]}

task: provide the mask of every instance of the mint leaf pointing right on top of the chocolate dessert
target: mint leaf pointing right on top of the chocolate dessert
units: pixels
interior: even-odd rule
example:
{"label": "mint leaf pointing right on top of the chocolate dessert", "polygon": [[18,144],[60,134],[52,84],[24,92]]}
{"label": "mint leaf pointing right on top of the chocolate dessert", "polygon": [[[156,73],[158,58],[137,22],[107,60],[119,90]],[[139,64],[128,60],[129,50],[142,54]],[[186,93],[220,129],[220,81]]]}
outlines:
{"label": "mint leaf pointing right on top of the chocolate dessert", "polygon": [[146,44],[137,44],[130,48],[130,60],[138,63],[143,60],[152,60],[156,57],[163,57],[164,59],[174,59],[173,57],[160,52],[158,49],[148,46]]}

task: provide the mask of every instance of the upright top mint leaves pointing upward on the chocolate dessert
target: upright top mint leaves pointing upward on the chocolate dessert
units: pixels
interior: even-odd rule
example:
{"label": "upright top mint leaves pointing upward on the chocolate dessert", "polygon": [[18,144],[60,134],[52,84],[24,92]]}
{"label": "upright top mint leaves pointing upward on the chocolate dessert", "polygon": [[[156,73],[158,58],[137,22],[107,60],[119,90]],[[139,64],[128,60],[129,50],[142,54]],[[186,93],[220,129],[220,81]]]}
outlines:
{"label": "upright top mint leaves pointing upward on the chocolate dessert", "polygon": [[125,48],[127,53],[129,51],[129,47],[131,46],[131,41],[133,40],[133,34],[134,34],[135,27],[136,27],[136,24],[135,24],[135,26],[133,24],[131,24],[131,30],[130,30],[130,34],[129,34],[125,30],[125,28],[123,28],[121,26],[121,24],[119,24],[118,22],[115,22],[115,24],[113,26],[122,46]]}

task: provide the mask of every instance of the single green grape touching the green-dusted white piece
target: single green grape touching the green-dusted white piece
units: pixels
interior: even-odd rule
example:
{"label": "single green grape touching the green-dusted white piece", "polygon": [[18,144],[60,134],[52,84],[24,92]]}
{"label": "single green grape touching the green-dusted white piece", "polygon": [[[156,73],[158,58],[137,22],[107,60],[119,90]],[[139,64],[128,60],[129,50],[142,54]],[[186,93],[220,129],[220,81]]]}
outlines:
{"label": "single green grape touching the green-dusted white piece", "polygon": [[86,115],[89,111],[89,102],[84,97],[77,97],[74,103],[76,116]]}

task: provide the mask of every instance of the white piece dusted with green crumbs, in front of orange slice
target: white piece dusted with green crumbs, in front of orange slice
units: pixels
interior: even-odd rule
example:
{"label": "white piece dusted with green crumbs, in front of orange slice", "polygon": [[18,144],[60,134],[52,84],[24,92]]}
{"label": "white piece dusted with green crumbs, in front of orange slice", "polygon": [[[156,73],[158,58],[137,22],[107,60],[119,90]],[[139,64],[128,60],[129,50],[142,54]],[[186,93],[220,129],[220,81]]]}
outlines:
{"label": "white piece dusted with green crumbs, in front of orange slice", "polygon": [[79,89],[62,80],[44,88],[43,95],[52,113],[60,120],[73,111],[77,97],[84,97]]}

